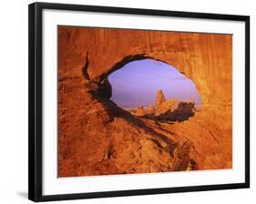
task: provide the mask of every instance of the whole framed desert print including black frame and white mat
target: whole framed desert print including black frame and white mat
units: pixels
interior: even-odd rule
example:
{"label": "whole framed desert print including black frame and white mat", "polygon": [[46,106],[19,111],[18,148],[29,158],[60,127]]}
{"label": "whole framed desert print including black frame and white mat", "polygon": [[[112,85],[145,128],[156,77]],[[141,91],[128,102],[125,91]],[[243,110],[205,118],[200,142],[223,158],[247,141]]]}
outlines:
{"label": "whole framed desert print including black frame and white mat", "polygon": [[250,187],[250,17],[29,5],[29,199]]}

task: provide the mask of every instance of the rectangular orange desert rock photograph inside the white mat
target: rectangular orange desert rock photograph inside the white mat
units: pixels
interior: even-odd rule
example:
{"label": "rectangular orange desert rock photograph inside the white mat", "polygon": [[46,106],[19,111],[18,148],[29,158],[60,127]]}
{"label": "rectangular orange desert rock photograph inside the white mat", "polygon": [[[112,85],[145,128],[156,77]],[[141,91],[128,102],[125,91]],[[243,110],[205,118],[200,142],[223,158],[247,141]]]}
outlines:
{"label": "rectangular orange desert rock photograph inside the white mat", "polygon": [[58,25],[57,177],[231,169],[231,34]]}

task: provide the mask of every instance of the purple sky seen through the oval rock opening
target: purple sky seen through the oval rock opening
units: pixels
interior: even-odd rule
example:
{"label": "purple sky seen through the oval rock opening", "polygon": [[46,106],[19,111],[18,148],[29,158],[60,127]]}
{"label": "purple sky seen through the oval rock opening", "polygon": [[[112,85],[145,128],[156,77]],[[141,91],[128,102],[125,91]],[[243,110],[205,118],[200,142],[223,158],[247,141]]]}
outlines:
{"label": "purple sky seen through the oval rock opening", "polygon": [[174,66],[153,59],[132,61],[108,76],[112,97],[119,107],[155,105],[159,89],[165,97],[186,101],[194,99],[200,105],[200,95],[194,83]]}

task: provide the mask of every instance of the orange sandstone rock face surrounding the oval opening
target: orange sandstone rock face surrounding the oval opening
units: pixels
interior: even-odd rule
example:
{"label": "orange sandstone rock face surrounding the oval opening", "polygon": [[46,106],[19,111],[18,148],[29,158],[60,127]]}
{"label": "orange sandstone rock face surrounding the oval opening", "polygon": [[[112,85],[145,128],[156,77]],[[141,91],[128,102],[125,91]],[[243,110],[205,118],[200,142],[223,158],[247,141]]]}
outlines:
{"label": "orange sandstone rock face surrounding the oval opening", "polygon": [[[58,176],[232,167],[232,36],[58,26]],[[169,124],[108,98],[107,76],[153,58],[195,83],[200,112]]]}

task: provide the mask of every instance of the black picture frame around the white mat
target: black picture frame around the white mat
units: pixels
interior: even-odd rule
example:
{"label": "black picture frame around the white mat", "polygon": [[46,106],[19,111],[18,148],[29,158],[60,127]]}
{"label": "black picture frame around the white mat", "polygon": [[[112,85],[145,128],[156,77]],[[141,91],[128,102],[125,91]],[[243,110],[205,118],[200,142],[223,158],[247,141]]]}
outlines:
{"label": "black picture frame around the white mat", "polygon": [[[245,182],[207,186],[189,186],[163,189],[135,189],[120,191],[104,191],[92,193],[77,193],[64,195],[42,195],[42,11],[43,9],[58,9],[68,11],[92,11],[129,15],[159,15],[187,18],[218,19],[245,22]],[[243,189],[250,188],[250,16],[220,15],[167,10],[149,10],[138,8],[108,7],[94,5],[67,5],[34,3],[29,5],[29,43],[28,43],[28,199],[33,201],[92,199],[105,197],[135,196],[148,194],[176,193],[188,191]]]}

